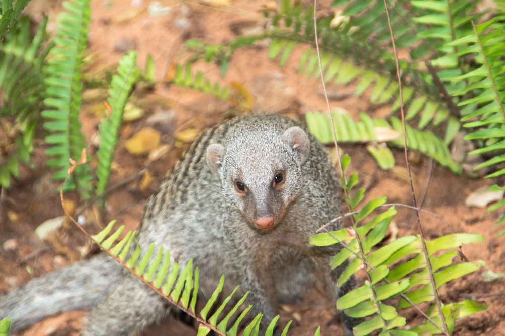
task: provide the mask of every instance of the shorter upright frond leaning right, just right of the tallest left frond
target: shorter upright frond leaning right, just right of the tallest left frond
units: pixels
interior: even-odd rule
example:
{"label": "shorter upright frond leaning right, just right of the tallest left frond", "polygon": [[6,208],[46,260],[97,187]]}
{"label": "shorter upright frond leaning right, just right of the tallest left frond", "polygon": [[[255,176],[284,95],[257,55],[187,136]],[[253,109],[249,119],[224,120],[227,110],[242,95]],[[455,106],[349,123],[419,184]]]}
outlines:
{"label": "shorter upright frond leaning right, just right of the tallest left frond", "polygon": [[111,164],[114,159],[114,150],[119,139],[119,129],[131,88],[140,75],[136,65],[137,53],[129,51],[119,61],[117,74],[112,76],[109,98],[107,102],[112,108],[111,115],[100,122],[100,147],[96,156],[96,195],[102,195],[107,187]]}

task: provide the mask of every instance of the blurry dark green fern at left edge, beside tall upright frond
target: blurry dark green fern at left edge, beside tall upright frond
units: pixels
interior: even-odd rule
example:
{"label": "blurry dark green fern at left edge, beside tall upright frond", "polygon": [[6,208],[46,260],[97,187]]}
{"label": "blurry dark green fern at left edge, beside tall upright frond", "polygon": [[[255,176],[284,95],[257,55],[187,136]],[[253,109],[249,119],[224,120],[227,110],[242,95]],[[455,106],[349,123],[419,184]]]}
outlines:
{"label": "blurry dark green fern at left edge, beside tall upright frond", "polygon": [[[3,97],[0,119],[4,120],[0,134],[5,135],[0,136],[0,146],[8,153],[5,158],[0,157],[0,186],[4,188],[9,187],[11,176],[18,176],[19,163],[29,162],[33,150],[33,135],[44,97],[42,63],[46,51],[42,50],[42,43],[46,24],[47,18],[40,23],[32,39],[30,20],[23,17],[11,27],[0,46],[0,92]],[[9,138],[13,137],[11,141]]]}

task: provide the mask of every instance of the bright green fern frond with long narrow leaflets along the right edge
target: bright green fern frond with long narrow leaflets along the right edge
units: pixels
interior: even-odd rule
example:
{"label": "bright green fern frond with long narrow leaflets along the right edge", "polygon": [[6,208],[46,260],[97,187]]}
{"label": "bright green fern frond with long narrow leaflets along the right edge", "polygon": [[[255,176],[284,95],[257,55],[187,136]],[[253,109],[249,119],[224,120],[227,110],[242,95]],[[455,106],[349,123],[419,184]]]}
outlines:
{"label": "bright green fern frond with long narrow leaflets along the right edge", "polygon": [[[505,13],[502,11],[501,13]],[[474,70],[453,78],[454,82],[466,80],[468,85],[460,90],[452,90],[457,97],[462,99],[460,106],[469,107],[462,117],[466,122],[464,127],[472,128],[473,131],[465,139],[480,142],[480,148],[470,154],[496,153],[494,157],[480,164],[475,169],[493,167],[493,171],[487,178],[493,178],[505,174],[505,169],[500,165],[505,161],[503,150],[505,149],[505,60],[503,50],[505,48],[505,36],[503,35],[502,14],[479,25],[473,25],[473,32],[448,44],[449,47],[459,47],[460,54],[471,56],[477,66]],[[492,190],[505,190],[505,187],[493,185]],[[492,205],[488,210],[498,209],[505,205],[501,200]],[[502,216],[497,224],[505,221]],[[505,230],[499,235],[505,234]]]}

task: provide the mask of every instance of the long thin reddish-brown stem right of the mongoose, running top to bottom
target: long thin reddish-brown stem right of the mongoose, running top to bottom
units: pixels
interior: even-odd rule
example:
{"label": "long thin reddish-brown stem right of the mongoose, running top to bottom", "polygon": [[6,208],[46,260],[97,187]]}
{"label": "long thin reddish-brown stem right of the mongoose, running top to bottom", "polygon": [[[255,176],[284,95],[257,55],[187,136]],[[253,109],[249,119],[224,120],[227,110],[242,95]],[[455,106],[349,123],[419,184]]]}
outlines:
{"label": "long thin reddish-brown stem right of the mongoose, running top to bottom", "polygon": [[396,75],[398,76],[398,85],[399,85],[399,94],[400,94],[401,125],[403,128],[403,154],[405,155],[405,164],[407,166],[407,172],[409,173],[409,184],[410,184],[411,193],[412,193],[412,202],[414,204],[414,207],[416,208],[414,210],[414,212],[416,214],[416,223],[417,223],[417,227],[418,227],[418,230],[419,230],[419,233],[421,236],[421,243],[423,246],[423,252],[424,252],[424,256],[426,258],[426,266],[428,267],[430,282],[431,282],[431,286],[433,288],[433,294],[435,296],[435,302],[438,307],[438,312],[440,313],[440,319],[442,320],[442,327],[444,328],[445,334],[448,336],[449,330],[447,329],[447,323],[445,322],[445,316],[443,315],[442,306],[440,303],[440,298],[439,298],[438,292],[437,292],[437,285],[435,283],[435,278],[433,277],[433,268],[431,267],[428,249],[426,248],[426,241],[424,240],[423,228],[421,227],[421,220],[419,218],[419,211],[417,210],[416,194],[414,193],[414,186],[412,184],[412,175],[411,175],[411,170],[410,170],[409,156],[407,155],[407,133],[406,133],[406,129],[405,129],[405,112],[403,111],[403,92],[402,92],[402,88],[401,88],[400,66],[399,66],[399,62],[398,62],[398,52],[396,50],[396,44],[394,42],[393,27],[391,26],[391,20],[389,18],[389,11],[387,9],[386,0],[384,0],[384,8],[386,9],[387,23],[389,25],[389,32],[391,33],[391,42],[393,44],[394,60],[396,62]]}

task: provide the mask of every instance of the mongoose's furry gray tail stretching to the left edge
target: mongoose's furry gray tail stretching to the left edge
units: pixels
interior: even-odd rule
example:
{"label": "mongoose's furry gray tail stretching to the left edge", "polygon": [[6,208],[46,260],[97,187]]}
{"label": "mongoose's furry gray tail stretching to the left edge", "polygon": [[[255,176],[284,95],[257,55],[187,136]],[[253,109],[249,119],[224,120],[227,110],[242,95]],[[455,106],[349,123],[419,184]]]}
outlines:
{"label": "mongoose's furry gray tail stretching to the left edge", "polygon": [[107,255],[77,262],[34,279],[0,296],[0,319],[12,320],[12,332],[63,311],[88,309],[118,283],[123,267]]}

